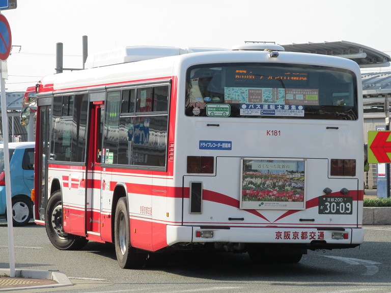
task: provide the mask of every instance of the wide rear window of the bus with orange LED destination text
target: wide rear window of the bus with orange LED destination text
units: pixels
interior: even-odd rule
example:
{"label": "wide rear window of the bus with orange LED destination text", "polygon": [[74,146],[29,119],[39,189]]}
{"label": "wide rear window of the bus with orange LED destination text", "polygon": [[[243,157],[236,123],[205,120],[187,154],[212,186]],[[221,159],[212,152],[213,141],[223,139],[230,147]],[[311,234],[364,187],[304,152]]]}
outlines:
{"label": "wide rear window of the bus with orange LED destination text", "polygon": [[357,120],[357,83],[343,69],[208,64],[186,74],[187,116]]}

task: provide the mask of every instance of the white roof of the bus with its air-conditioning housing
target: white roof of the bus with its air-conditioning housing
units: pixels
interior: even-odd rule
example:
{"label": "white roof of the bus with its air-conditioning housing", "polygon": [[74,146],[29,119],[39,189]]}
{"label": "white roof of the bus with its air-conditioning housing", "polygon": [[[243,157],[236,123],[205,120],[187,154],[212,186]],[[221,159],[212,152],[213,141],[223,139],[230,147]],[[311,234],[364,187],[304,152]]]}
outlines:
{"label": "white roof of the bus with its air-conditioning housing", "polygon": [[[126,54],[121,54],[121,52]],[[265,51],[264,47],[260,50],[238,48],[227,50],[136,46],[116,49],[113,56],[114,58],[110,59],[107,52],[106,54],[102,53],[99,58],[90,58],[90,60],[93,60],[90,64],[95,62],[96,67],[45,76],[41,80],[39,92],[77,91],[90,89],[91,87],[121,86],[130,82],[168,79],[178,74],[179,68],[202,63],[273,62],[311,64],[349,68],[355,71],[356,75],[360,75],[357,63],[346,58],[284,51],[279,51],[273,58],[274,55],[270,54],[270,50],[266,49]],[[109,66],[110,62],[114,65]],[[99,67],[98,64],[102,66]],[[107,65],[103,66],[103,64]]]}

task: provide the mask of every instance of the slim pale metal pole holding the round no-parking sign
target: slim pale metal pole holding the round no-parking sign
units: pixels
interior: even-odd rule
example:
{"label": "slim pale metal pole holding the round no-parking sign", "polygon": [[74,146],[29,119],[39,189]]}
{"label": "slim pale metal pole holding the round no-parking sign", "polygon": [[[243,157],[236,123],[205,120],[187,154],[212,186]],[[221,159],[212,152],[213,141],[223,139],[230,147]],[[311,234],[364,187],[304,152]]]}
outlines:
{"label": "slim pale metal pole holding the round no-parking sign", "polygon": [[6,81],[3,78],[3,67],[5,61],[0,62],[0,87],[2,100],[2,122],[3,122],[3,144],[4,144],[4,171],[6,173],[6,199],[7,199],[7,226],[8,226],[8,250],[10,254],[10,277],[15,277],[15,250],[14,231],[12,223],[12,199],[10,180],[10,153],[8,151],[8,116],[6,99]]}

